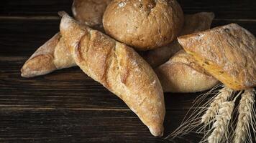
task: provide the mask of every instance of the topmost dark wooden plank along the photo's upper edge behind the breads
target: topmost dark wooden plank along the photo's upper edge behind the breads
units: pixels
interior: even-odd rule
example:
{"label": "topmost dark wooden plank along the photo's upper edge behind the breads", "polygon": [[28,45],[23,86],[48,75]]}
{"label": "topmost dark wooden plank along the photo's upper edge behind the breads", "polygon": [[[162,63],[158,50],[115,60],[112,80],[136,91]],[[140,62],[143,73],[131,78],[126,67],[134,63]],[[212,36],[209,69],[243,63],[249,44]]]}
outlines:
{"label": "topmost dark wooden plank along the photo's upper edge behind the breads", "polygon": [[[213,11],[218,19],[256,19],[256,1],[254,0],[178,0],[184,13],[193,14],[200,11]],[[72,1],[18,1],[3,0],[0,16],[57,16],[58,11],[71,14]]]}

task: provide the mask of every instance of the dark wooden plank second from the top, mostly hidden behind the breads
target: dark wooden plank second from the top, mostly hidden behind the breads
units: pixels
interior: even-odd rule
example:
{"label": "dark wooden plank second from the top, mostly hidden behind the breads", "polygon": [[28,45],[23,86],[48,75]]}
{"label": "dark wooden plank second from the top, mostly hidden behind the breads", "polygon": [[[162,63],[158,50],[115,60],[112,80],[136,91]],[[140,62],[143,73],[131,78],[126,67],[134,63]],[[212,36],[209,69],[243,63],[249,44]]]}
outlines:
{"label": "dark wooden plank second from the top, mostly hidden behind the breads", "polygon": [[[59,31],[60,20],[5,19],[0,22],[0,56],[27,56]],[[256,34],[256,21],[216,19],[212,27],[237,23]]]}

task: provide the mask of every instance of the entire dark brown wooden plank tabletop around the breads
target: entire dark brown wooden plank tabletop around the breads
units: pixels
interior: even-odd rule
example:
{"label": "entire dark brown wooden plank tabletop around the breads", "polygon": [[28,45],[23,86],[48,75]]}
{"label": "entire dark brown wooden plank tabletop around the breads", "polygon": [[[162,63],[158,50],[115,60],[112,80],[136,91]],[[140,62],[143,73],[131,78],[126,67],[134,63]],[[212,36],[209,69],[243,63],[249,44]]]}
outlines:
{"label": "entire dark brown wooden plank tabletop around the breads", "polygon": [[[180,0],[186,14],[214,11],[213,26],[238,23],[256,34],[255,0]],[[0,4],[0,142],[198,142],[197,134],[152,137],[124,102],[73,67],[20,77],[26,59],[58,31],[57,12],[72,1],[4,0]],[[165,136],[196,94],[165,94]]]}

